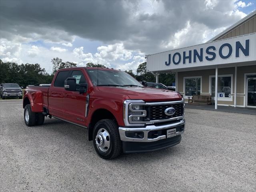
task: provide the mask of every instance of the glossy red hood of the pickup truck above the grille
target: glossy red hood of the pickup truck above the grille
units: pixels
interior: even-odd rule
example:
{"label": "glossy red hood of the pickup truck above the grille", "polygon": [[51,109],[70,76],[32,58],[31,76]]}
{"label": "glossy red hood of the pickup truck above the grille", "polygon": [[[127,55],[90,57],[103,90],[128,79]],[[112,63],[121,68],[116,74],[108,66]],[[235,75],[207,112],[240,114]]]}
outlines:
{"label": "glossy red hood of the pickup truck above the grille", "polygon": [[102,92],[126,95],[130,99],[141,99],[146,102],[181,100],[182,96],[174,91],[148,87],[105,87],[98,86]]}

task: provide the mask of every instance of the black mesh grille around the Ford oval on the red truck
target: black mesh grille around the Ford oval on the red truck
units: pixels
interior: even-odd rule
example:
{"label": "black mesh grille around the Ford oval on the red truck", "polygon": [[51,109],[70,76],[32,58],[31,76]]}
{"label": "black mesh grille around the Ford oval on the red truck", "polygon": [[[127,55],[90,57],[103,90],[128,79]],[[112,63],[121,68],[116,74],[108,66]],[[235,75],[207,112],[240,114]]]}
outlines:
{"label": "black mesh grille around the Ford oval on the red truck", "polygon": [[[173,107],[175,109],[175,114],[168,116],[164,113],[164,110],[169,107]],[[150,120],[164,120],[182,115],[183,103],[150,106]]]}

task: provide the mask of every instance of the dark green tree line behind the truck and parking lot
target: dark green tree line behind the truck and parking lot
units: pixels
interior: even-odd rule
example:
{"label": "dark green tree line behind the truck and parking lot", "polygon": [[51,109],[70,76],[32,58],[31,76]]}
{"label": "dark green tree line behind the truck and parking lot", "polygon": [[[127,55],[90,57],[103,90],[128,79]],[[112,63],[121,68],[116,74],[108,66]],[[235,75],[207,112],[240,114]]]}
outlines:
{"label": "dark green tree line behind the truck and parking lot", "polygon": [[[68,67],[76,67],[76,63],[63,62],[61,58],[52,59],[52,74],[48,74],[40,64],[20,64],[15,62],[3,62],[0,60],[0,83],[18,83],[20,86],[26,87],[27,85],[50,84],[52,78],[57,70]],[[102,64],[87,63],[87,67],[104,67]],[[141,63],[134,74],[132,70],[125,71],[136,80],[147,82],[156,82],[154,74],[146,71],[146,62]],[[175,82],[174,74],[161,73],[159,74],[159,82],[166,86],[172,86]]]}

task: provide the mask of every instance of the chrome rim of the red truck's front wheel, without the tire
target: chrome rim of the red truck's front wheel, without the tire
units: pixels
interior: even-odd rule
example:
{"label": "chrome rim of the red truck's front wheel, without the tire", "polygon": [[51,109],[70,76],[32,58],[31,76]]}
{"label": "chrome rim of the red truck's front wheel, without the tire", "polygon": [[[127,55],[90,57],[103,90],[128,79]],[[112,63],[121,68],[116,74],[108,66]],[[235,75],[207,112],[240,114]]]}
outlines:
{"label": "chrome rim of the red truck's front wheel, without the tire", "polygon": [[110,148],[110,134],[105,128],[100,128],[97,132],[96,147],[102,152],[106,152]]}

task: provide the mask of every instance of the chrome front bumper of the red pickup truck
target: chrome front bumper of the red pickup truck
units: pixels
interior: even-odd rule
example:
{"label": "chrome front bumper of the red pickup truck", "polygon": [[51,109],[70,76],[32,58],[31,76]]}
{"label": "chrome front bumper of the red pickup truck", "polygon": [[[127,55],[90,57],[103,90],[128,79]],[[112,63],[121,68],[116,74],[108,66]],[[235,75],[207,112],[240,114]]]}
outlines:
{"label": "chrome front bumper of the red pickup truck", "polygon": [[[158,136],[157,138],[148,138],[148,132],[152,130],[161,130],[161,129],[166,129],[166,128],[174,128],[176,126],[180,126],[184,124],[184,130],[185,130],[185,120],[182,119],[180,122],[176,122],[173,124],[168,124],[168,125],[162,125],[162,126],[155,126],[155,125],[148,125],[144,128],[126,128],[126,127],[119,127],[119,134],[120,134],[120,139],[122,141],[130,141],[130,142],[153,142],[153,141],[158,141],[161,139],[165,139],[166,135],[161,135]],[[181,135],[184,133],[184,130],[176,132],[176,136]],[[144,138],[130,138],[127,137],[125,132],[143,132],[144,133]]]}

